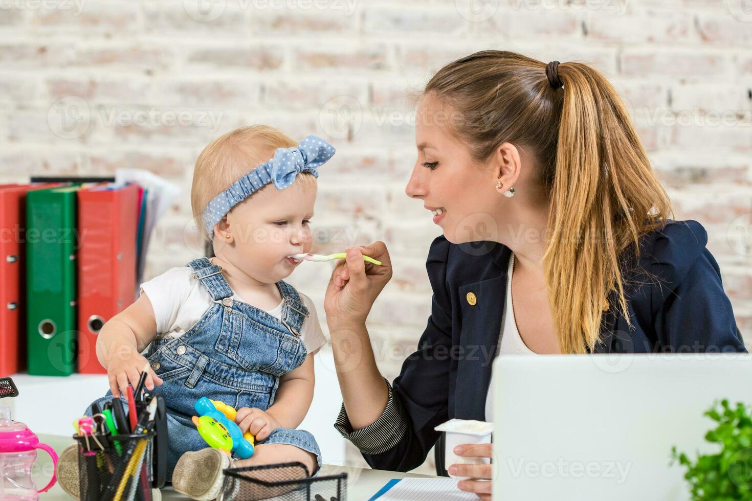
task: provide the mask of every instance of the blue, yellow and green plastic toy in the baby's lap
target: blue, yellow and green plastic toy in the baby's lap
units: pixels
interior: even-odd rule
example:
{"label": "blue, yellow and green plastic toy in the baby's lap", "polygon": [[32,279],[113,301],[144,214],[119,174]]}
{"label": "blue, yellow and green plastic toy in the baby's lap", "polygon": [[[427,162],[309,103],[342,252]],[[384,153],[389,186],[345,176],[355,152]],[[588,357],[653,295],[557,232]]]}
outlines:
{"label": "blue, yellow and green plastic toy in the baby's lap", "polygon": [[235,452],[241,459],[251,457],[255,439],[248,431],[241,433],[240,427],[235,424],[235,415],[238,413],[235,409],[207,397],[196,400],[194,408],[199,416],[193,416],[191,421],[196,424],[199,434],[208,445],[227,455]]}

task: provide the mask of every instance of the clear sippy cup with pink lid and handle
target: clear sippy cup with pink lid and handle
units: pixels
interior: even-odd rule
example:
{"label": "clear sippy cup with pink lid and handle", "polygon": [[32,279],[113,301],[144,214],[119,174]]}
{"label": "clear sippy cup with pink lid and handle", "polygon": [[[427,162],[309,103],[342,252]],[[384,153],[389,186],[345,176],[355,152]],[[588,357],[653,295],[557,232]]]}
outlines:
{"label": "clear sippy cup with pink lid and handle", "polygon": [[26,424],[11,420],[11,409],[0,406],[0,501],[37,501],[39,493],[55,484],[53,470],[50,483],[37,490],[32,476],[37,449],[50,454],[57,469],[57,454],[53,448],[39,443],[38,436]]}

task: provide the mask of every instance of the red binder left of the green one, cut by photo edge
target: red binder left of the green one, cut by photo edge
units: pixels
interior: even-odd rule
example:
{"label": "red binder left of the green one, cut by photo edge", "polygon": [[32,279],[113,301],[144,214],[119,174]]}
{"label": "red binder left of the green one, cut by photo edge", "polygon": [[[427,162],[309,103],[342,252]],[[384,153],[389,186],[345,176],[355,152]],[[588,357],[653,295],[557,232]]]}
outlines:
{"label": "red binder left of the green one, cut by photo edge", "polygon": [[54,186],[0,185],[0,377],[26,370],[26,192]]}

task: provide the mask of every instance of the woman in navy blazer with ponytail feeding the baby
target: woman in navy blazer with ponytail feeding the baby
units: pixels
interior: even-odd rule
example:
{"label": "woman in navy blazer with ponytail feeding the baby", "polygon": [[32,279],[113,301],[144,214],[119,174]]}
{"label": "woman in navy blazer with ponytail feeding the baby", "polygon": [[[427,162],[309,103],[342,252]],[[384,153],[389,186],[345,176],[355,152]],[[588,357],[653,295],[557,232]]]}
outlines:
{"label": "woman in navy blazer with ponytail feeding the baby", "polygon": [[[417,112],[405,191],[444,234],[426,262],[431,316],[394,382],[365,328],[392,276],[384,243],[348,249],[326,292],[344,399],[335,427],[371,466],[413,469],[437,424],[490,420],[498,353],[745,351],[705,230],[670,219],[627,110],[598,71],[483,51],[438,71]],[[491,456],[490,445],[463,449]],[[487,464],[447,466],[490,478]],[[459,487],[490,499],[490,483]]]}

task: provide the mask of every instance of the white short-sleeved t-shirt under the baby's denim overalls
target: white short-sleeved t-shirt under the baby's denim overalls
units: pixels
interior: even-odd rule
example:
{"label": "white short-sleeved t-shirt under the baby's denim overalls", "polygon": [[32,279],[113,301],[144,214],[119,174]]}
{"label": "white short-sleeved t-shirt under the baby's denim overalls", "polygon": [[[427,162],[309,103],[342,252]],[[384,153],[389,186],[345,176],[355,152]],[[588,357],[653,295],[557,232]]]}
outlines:
{"label": "white short-sleeved t-shirt under the baby's denim overalls", "polygon": [[[211,294],[201,280],[193,278],[190,267],[174,267],[141,284],[141,292],[149,298],[156,318],[158,339],[177,339],[196,325],[214,303]],[[301,340],[308,353],[315,354],[326,344],[319,318],[311,298],[298,292],[302,303],[308,308],[308,318],[300,329]],[[245,303],[238,294],[232,300]],[[269,315],[282,318],[282,300],[274,309],[265,310]]]}

